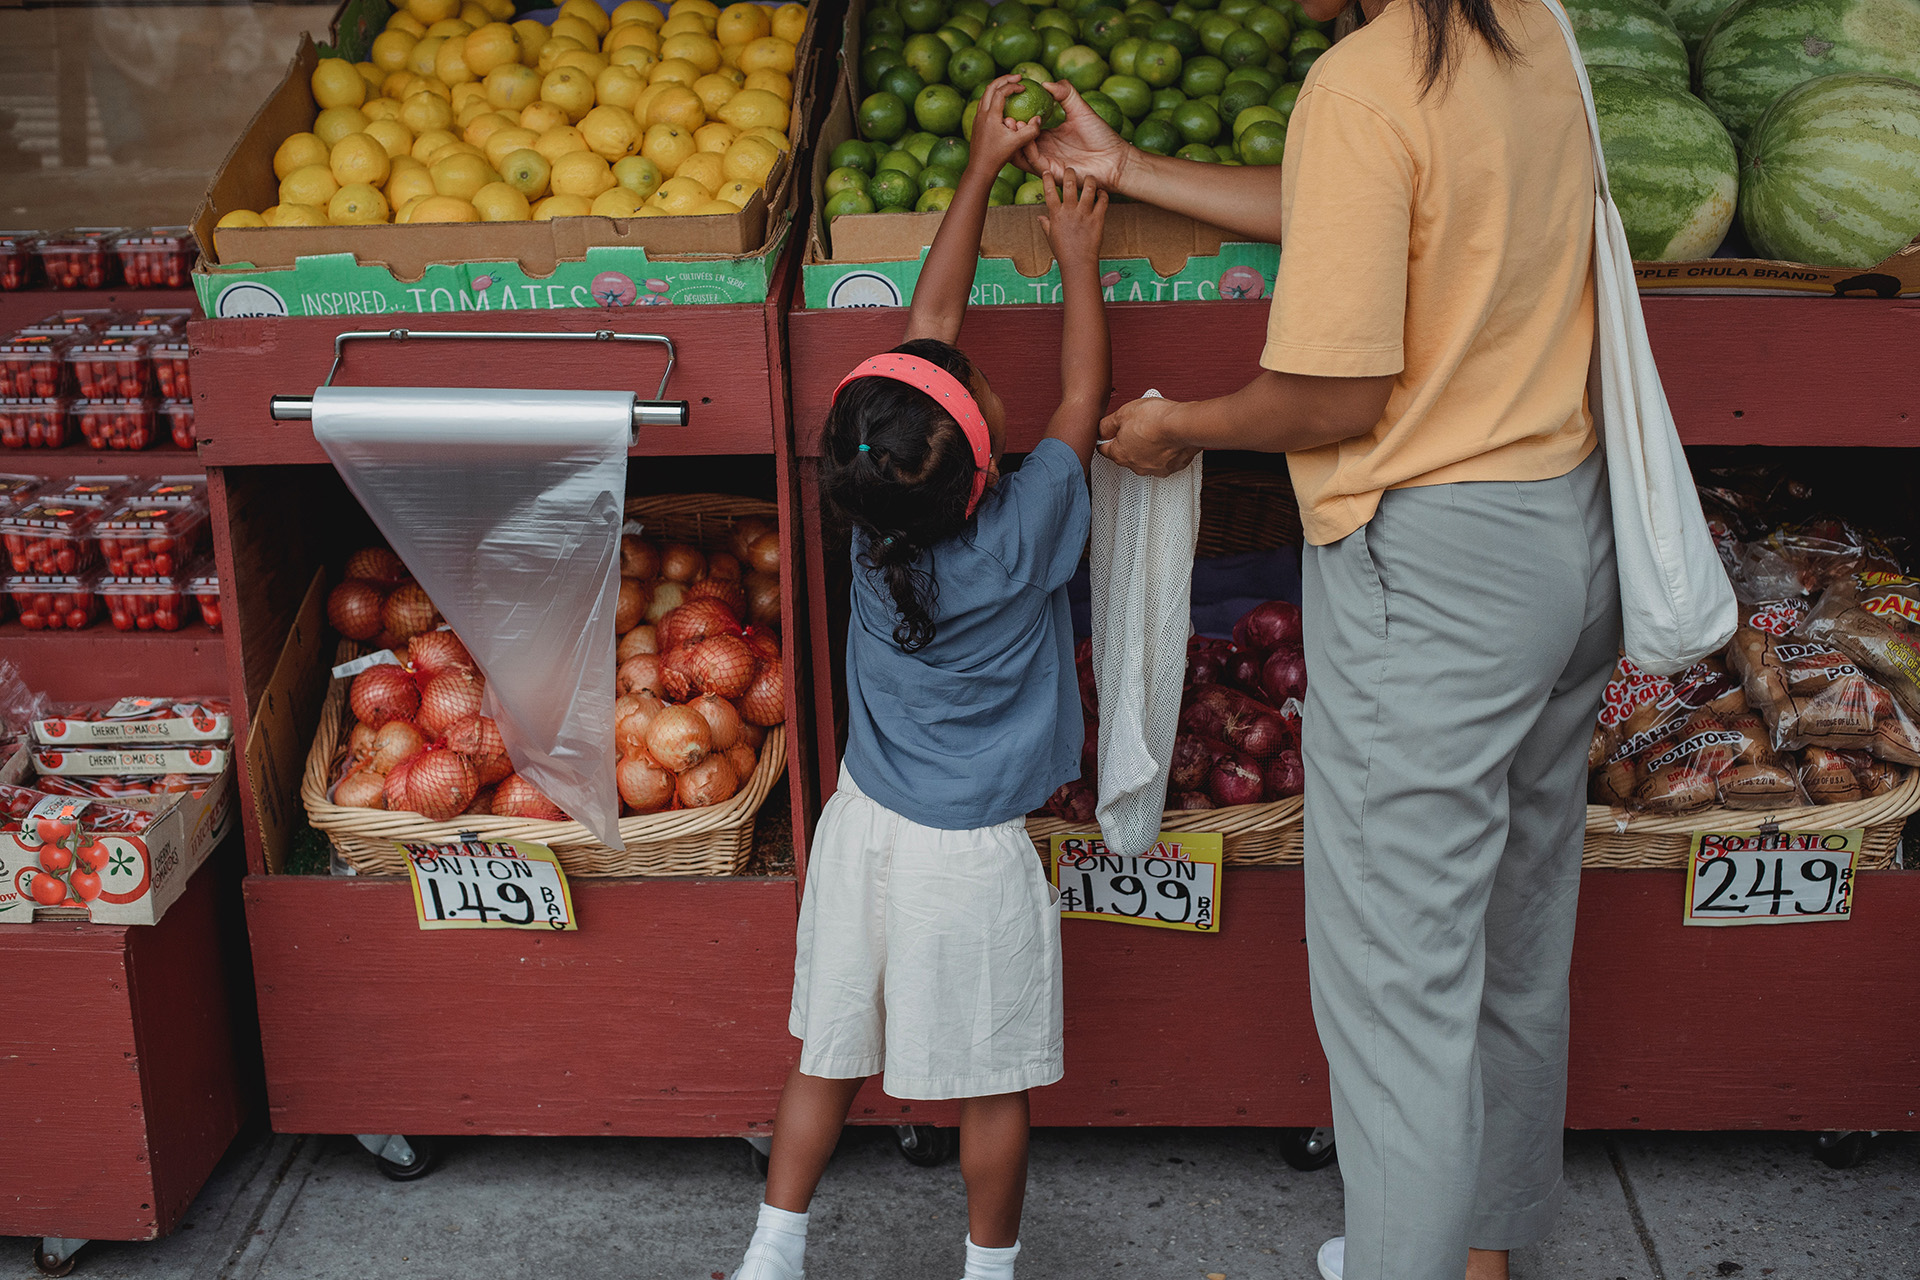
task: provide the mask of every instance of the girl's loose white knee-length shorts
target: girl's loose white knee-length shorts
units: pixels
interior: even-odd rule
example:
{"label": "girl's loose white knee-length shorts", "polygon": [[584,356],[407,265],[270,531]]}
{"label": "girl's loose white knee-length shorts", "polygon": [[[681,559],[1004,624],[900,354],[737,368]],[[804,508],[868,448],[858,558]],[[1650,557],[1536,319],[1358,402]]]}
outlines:
{"label": "girl's loose white knee-length shorts", "polygon": [[885,1071],[895,1098],[1012,1094],[1064,1075],[1060,1023],[1060,908],[1025,823],[922,827],[843,768],[801,900],[801,1071]]}

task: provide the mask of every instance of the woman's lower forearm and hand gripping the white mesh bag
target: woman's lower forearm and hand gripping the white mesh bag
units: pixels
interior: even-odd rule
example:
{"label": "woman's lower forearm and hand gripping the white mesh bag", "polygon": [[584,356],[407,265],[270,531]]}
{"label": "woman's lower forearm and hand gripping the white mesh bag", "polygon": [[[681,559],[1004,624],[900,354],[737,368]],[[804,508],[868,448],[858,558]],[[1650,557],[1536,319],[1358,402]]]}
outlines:
{"label": "woman's lower forearm and hand gripping the white mesh bag", "polygon": [[1121,405],[1100,422],[1100,453],[1142,476],[1171,476],[1200,449],[1317,449],[1371,430],[1392,391],[1394,374],[1321,378],[1267,368],[1219,399]]}

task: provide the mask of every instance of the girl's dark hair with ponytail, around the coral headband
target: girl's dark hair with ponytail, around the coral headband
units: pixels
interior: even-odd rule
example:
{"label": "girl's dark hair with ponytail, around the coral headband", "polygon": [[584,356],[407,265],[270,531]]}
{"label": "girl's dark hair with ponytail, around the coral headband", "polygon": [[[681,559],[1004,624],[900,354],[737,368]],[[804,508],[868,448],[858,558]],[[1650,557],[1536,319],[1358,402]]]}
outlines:
{"label": "girl's dark hair with ponytail, around the coral headband", "polygon": [[[972,386],[973,365],[950,344],[918,338],[895,351]],[[858,378],[833,401],[824,449],[822,497],[866,535],[860,564],[885,580],[900,616],[893,641],[906,652],[925,649],[939,583],[916,562],[968,524],[973,449],[966,432],[925,391],[893,378]]]}

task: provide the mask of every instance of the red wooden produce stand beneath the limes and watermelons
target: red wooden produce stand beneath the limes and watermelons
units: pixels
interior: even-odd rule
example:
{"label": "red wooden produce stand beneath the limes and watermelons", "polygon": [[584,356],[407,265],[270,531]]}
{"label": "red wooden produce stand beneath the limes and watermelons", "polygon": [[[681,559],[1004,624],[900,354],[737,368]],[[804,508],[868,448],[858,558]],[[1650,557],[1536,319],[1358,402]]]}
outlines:
{"label": "red wooden produce stand beneath the limes and watermelons", "polygon": [[[1912,301],[1647,297],[1645,313],[1690,445],[1920,447]],[[1119,401],[1148,388],[1192,399],[1252,376],[1267,303],[1114,303],[1108,317]],[[900,340],[904,311],[797,309],[789,326],[826,798],[847,549],[822,526],[820,430],[833,386]],[[1033,447],[1058,403],[1058,307],[968,311],[960,345],[1006,401],[1012,453]],[[1920,994],[1901,963],[1920,936],[1920,875],[1862,875],[1853,921],[1834,929],[1684,929],[1682,887],[1680,871],[1582,879],[1567,1123],[1920,1128]],[[1233,867],[1223,900],[1210,938],[1066,923],[1068,1075],[1035,1094],[1037,1125],[1329,1123],[1302,873]],[[899,1125],[908,1103],[870,1086],[858,1111]],[[952,1109],[916,1103],[912,1117],[947,1125]]]}

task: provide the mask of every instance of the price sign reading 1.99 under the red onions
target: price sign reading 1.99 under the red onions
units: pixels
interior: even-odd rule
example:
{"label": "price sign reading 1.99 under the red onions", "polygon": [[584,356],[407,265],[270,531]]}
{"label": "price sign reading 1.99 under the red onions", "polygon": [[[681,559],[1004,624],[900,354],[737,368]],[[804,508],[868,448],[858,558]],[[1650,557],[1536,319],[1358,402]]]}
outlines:
{"label": "price sign reading 1.99 under the red onions", "polygon": [[1108,852],[1098,833],[1048,839],[1048,867],[1068,919],[1219,933],[1219,835],[1162,831],[1142,858]]}

